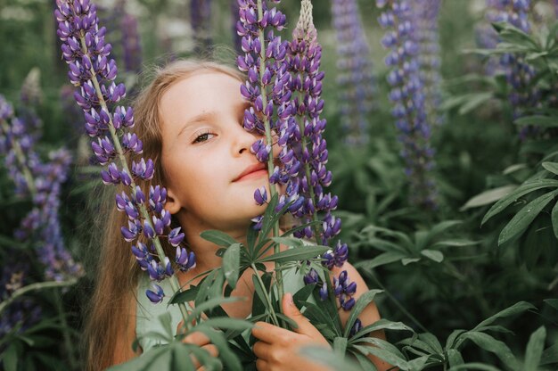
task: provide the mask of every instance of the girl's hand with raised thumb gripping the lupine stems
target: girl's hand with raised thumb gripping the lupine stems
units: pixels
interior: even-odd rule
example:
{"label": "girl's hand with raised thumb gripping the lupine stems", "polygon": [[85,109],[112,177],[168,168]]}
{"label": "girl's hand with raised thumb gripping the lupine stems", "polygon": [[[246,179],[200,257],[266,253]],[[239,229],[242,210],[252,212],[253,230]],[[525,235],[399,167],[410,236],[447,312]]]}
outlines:
{"label": "girl's hand with raised thumb gripping the lupine stems", "polygon": [[298,355],[305,346],[324,346],[330,348],[324,336],[310,324],[300,310],[294,305],[291,293],[283,296],[283,314],[290,317],[298,327],[294,332],[265,322],[257,322],[252,334],[259,341],[254,344],[254,354],[258,357],[258,371],[318,371],[329,368]]}

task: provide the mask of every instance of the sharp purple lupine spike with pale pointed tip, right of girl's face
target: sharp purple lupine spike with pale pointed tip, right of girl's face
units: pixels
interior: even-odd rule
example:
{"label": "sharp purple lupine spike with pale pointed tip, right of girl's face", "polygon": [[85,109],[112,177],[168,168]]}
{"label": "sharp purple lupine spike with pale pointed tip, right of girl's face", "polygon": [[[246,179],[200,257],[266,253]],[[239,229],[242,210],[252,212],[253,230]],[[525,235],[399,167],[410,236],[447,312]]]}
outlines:
{"label": "sharp purple lupine spike with pale pointed tip, right of girl's face", "polygon": [[[324,109],[324,101],[321,99],[322,80],[324,72],[320,71],[320,60],[322,47],[317,42],[317,31],[312,20],[312,3],[303,0],[300,8],[300,19],[296,28],[292,31],[292,40],[287,53],[289,72],[291,73],[290,90],[291,112],[293,118],[290,126],[285,125],[281,131],[279,140],[283,136],[287,145],[280,154],[280,159],[288,166],[296,166],[300,169],[297,173],[289,175],[286,188],[286,197],[289,197],[289,188],[299,195],[304,202],[293,215],[302,219],[303,222],[320,220],[318,212],[323,213],[321,218],[322,227],[307,227],[295,235],[302,238],[316,238],[316,243],[327,245],[329,241],[341,231],[341,219],[332,215],[332,210],[337,208],[337,196],[324,193],[324,188],[332,182],[331,171],[325,168],[327,163],[326,142],[322,136],[325,128],[325,120],[320,119]],[[288,130],[292,128],[292,134]],[[284,133],[284,134],[283,134]],[[289,162],[285,161],[288,159]],[[297,202],[293,203],[296,204]],[[322,256],[324,266],[332,269],[333,266],[341,268],[348,258],[347,244],[338,242],[337,246]],[[341,286],[349,284],[347,271],[342,271],[339,277],[333,278]],[[327,281],[327,279],[326,279]],[[316,283],[321,286],[320,297],[326,300],[330,297],[326,282],[320,283],[316,270],[310,269],[304,277],[304,282]],[[357,285],[352,284],[349,290],[333,290],[333,294],[339,299],[342,309],[350,310],[355,304],[352,295]]]}

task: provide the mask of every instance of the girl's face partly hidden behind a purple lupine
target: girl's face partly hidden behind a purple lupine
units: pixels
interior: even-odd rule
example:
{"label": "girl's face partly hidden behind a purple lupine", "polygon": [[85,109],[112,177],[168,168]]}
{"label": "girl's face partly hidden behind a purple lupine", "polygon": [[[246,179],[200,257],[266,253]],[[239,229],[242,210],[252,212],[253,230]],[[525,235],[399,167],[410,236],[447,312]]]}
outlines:
{"label": "girl's face partly hidden behind a purple lupine", "polygon": [[265,208],[253,194],[262,185],[269,194],[267,168],[250,153],[258,136],[242,128],[249,103],[240,84],[225,73],[203,72],[161,97],[167,209],[185,228],[243,231]]}

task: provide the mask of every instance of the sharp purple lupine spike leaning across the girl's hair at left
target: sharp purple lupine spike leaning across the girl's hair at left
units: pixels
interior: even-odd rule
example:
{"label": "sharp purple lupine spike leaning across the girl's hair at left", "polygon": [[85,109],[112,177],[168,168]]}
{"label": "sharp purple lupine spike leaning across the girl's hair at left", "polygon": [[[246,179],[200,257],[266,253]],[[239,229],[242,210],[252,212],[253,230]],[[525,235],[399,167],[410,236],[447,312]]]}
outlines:
{"label": "sharp purple lupine spike leaning across the girl's hair at left", "polygon": [[[137,243],[132,253],[138,265],[153,280],[170,276],[171,286],[179,291],[160,238],[167,238],[170,244],[178,246],[185,235],[180,228],[170,230],[168,235],[165,232],[170,225],[170,214],[164,210],[166,189],[160,185],[151,186],[147,199],[136,184],[152,178],[154,164],[151,159],[140,157],[143,144],[131,132],[134,128],[132,108],[118,105],[126,95],[126,87],[114,82],[117,66],[111,59],[111,45],[104,39],[106,29],[99,27],[96,6],[89,0],[57,0],[56,5],[58,9],[54,14],[58,21],[57,35],[62,40],[62,58],[69,65],[70,82],[78,87],[74,97],[84,110],[86,133],[96,138],[92,148],[97,161],[105,166],[101,173],[103,183],[127,186],[126,192],[116,196],[118,210],[126,212],[128,217],[127,226],[121,227],[122,236],[128,242],[135,242],[144,235],[157,253],[146,253],[145,245]],[[131,169],[127,161],[115,162],[125,154],[135,159]],[[195,262],[193,254],[189,254],[188,260]],[[188,266],[192,268],[193,264],[185,267]],[[151,301],[160,302],[164,293],[160,286],[154,287],[155,291],[148,290],[147,295]]]}

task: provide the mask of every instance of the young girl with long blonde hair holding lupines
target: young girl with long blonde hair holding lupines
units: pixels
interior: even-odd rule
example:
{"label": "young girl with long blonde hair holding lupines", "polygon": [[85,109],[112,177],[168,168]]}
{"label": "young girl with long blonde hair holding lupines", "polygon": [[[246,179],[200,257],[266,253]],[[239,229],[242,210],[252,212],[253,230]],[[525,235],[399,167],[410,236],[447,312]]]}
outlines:
{"label": "young girl with long blonde hair holding lupines", "polygon": [[[166,209],[173,215],[173,223],[183,227],[185,240],[196,254],[196,267],[177,273],[185,288],[200,282],[201,278],[193,277],[220,266],[217,245],[201,239],[202,231],[218,229],[246,243],[250,219],[265,209],[253,199],[256,188],[266,186],[269,193],[269,185],[265,164],[250,153],[250,145],[259,136],[242,128],[243,112],[249,107],[240,94],[243,79],[237,70],[214,62],[174,62],[157,72],[135,102],[135,133],[144,141],[144,156],[157,164],[152,184],[167,188]],[[144,186],[146,192],[149,184]],[[132,342],[137,335],[157,326],[155,318],[159,313],[170,311],[176,327],[180,319],[176,306],[167,307],[166,302],[153,305],[145,299],[149,279],[119,231],[127,217],[116,210],[112,201],[109,205],[111,215],[103,228],[98,281],[86,326],[88,370],[104,369],[136,357]],[[165,248],[169,255],[174,251],[169,245]],[[269,265],[267,270],[273,268]],[[365,293],[364,280],[349,263],[336,269],[334,275],[347,270],[357,282],[355,299]],[[224,306],[229,316],[250,315],[252,274],[246,271],[232,294],[245,301]],[[284,280],[287,294],[283,297],[283,313],[299,326],[291,332],[266,323],[256,324],[252,334],[258,339],[254,346],[258,370],[323,369],[296,355],[305,345],[329,345],[292,303],[290,293],[300,288],[302,277],[287,272]],[[171,291],[167,289],[166,293]],[[341,309],[340,316],[344,325],[349,313]],[[371,303],[360,318],[367,326],[380,316]],[[195,342],[217,356],[216,348],[201,334],[192,334],[185,342]],[[139,352],[154,345],[148,340],[140,344]],[[388,367],[377,359],[374,362],[381,369]]]}

